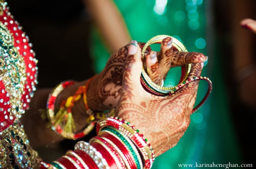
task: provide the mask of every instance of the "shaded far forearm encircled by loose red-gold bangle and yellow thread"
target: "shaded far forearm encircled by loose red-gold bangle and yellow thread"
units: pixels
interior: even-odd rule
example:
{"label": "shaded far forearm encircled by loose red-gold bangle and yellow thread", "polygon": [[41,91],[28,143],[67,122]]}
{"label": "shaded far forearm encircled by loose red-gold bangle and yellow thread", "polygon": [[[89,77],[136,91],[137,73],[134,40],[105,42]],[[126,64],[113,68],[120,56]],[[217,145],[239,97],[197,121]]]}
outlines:
{"label": "shaded far forearm encircled by loose red-gold bangle and yellow thread", "polygon": [[[58,111],[61,101],[66,100],[67,97],[72,96],[79,86],[84,86],[88,80],[77,82],[73,86],[64,89],[56,98],[55,107]],[[89,109],[96,111],[105,110],[105,106],[100,103],[97,95],[98,75],[89,83],[87,91],[87,102]],[[43,146],[50,143],[56,143],[64,140],[64,137],[58,135],[49,126],[49,119],[42,118],[42,113],[46,115],[46,105],[49,94],[52,89],[38,89],[30,102],[30,108],[22,116],[21,122],[24,126],[26,135],[33,147]],[[42,111],[41,111],[42,110]],[[73,107],[73,119],[76,123],[77,131],[81,131],[87,126],[87,111],[83,99],[80,99]],[[44,116],[45,116],[44,115]]]}

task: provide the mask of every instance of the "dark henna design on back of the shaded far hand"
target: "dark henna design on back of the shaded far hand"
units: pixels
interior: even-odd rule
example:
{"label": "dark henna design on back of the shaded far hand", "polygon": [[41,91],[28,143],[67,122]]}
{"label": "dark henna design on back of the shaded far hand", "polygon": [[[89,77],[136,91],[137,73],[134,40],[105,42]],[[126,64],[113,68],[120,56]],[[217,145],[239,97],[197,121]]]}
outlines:
{"label": "dark henna design on back of the shaded far hand", "polygon": [[[138,44],[142,48],[145,43]],[[126,45],[112,54],[97,80],[92,82],[91,86],[94,86],[91,89],[94,92],[87,97],[88,105],[90,105],[91,109],[103,111],[117,106],[121,93],[123,66],[127,59],[128,46]],[[148,47],[146,52],[151,52],[151,48]]]}

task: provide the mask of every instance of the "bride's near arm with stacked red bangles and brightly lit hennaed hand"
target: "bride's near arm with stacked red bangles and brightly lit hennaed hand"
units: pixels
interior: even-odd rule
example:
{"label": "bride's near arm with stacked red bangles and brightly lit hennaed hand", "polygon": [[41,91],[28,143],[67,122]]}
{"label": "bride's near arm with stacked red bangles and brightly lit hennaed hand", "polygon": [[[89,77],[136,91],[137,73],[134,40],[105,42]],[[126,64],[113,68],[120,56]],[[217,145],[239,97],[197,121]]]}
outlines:
{"label": "bride's near arm with stacked red bangles and brightly lit hennaed hand", "polygon": [[[200,76],[202,66],[201,63],[193,64],[188,79]],[[52,165],[150,169],[155,156],[177,144],[189,126],[198,82],[189,83],[172,96],[151,95],[140,84],[141,67],[140,48],[130,45],[116,110],[116,116],[122,119],[100,120],[96,137],[89,143],[78,142],[74,151],[68,151]],[[43,166],[49,167],[46,163],[42,163]]]}

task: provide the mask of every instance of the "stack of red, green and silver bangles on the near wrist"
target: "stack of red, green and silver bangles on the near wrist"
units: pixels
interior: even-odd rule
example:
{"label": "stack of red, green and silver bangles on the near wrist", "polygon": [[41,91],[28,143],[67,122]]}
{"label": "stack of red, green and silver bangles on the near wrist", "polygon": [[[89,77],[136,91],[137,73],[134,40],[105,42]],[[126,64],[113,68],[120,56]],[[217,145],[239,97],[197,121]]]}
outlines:
{"label": "stack of red, green and silver bangles on the near wrist", "polygon": [[99,120],[97,136],[89,143],[79,141],[75,150],[41,169],[150,169],[154,151],[143,134],[119,117]]}

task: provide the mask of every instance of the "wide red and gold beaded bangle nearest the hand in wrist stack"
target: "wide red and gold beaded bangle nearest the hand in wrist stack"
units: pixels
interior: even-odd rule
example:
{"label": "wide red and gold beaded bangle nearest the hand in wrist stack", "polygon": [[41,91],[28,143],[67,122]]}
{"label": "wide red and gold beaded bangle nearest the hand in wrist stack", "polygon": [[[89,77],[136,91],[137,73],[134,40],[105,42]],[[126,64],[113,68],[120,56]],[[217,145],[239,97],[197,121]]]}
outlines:
{"label": "wide red and gold beaded bangle nearest the hand in wrist stack", "polygon": [[135,126],[122,118],[109,117],[108,119],[100,120],[97,123],[96,132],[99,133],[101,129],[106,126],[112,126],[125,133],[125,135],[127,135],[140,149],[145,161],[145,169],[150,169],[152,167],[155,159],[154,150],[145,136]]}

